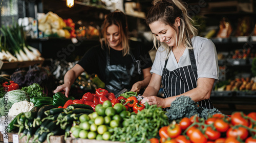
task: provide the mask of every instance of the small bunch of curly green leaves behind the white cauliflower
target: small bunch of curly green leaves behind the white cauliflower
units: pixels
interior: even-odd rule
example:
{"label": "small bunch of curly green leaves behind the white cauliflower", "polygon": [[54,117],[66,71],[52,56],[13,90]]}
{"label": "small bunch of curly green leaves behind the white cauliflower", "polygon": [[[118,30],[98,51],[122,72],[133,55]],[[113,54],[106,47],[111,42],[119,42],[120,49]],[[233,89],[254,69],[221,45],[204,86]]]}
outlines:
{"label": "small bunch of curly green leaves behind the white cauliflower", "polygon": [[39,84],[33,83],[29,86],[22,87],[22,90],[29,94],[29,97],[46,97],[44,93],[44,88],[42,88]]}

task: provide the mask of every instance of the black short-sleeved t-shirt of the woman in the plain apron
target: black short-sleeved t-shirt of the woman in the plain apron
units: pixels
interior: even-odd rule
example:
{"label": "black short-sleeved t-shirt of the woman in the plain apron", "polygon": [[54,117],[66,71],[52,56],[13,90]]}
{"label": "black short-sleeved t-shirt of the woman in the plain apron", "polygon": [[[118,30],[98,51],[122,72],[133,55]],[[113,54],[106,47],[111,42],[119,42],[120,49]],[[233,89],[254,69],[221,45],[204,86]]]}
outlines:
{"label": "black short-sleeved t-shirt of the woman in the plain apron", "polygon": [[[130,50],[135,59],[140,60],[141,69],[152,66],[150,55],[142,42],[130,40]],[[110,65],[125,64],[129,68],[133,62],[131,55],[123,57],[122,51],[110,48]],[[77,64],[88,74],[97,74],[105,83],[106,47],[103,50],[100,45],[93,46]]]}

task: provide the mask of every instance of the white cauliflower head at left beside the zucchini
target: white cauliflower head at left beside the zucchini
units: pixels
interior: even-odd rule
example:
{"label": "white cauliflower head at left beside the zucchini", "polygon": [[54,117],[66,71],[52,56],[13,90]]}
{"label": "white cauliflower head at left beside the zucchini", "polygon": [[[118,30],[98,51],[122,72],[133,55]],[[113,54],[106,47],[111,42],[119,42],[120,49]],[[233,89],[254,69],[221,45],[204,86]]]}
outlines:
{"label": "white cauliflower head at left beside the zucchini", "polygon": [[28,112],[34,107],[34,104],[32,102],[28,101],[20,101],[16,102],[12,105],[12,107],[9,109],[8,115],[18,115],[21,112]]}

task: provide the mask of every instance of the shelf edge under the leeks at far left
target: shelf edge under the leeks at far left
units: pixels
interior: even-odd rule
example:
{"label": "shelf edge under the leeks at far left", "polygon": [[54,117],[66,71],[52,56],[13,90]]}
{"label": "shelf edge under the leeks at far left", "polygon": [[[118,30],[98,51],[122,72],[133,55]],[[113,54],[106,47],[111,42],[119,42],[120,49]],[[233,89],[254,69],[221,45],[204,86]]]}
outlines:
{"label": "shelf edge under the leeks at far left", "polygon": [[0,60],[0,69],[14,69],[18,67],[29,67],[35,64],[42,64],[44,60],[36,60],[36,61],[23,61],[23,62],[8,62]]}

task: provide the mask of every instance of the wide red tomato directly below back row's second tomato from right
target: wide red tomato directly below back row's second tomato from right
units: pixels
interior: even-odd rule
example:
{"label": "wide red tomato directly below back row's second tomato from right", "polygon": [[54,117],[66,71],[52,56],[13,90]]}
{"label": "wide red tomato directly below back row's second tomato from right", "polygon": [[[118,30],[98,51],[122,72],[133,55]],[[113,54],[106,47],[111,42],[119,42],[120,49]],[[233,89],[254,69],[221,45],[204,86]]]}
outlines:
{"label": "wide red tomato directly below back row's second tomato from right", "polygon": [[234,137],[234,138],[238,138],[240,136],[240,138],[244,140],[248,136],[248,131],[247,131],[247,129],[245,129],[243,127],[239,127],[238,129],[230,128],[226,132],[226,136]]}

